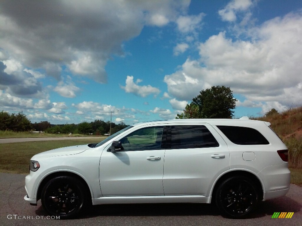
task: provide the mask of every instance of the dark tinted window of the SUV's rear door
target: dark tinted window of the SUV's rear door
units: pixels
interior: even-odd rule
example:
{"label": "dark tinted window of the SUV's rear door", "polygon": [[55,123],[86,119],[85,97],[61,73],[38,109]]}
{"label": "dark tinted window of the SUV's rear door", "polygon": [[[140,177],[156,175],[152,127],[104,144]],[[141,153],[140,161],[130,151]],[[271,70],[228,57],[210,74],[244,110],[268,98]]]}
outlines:
{"label": "dark tinted window of the SUV's rear door", "polygon": [[177,125],[171,127],[171,148],[218,147],[212,133],[203,125]]}

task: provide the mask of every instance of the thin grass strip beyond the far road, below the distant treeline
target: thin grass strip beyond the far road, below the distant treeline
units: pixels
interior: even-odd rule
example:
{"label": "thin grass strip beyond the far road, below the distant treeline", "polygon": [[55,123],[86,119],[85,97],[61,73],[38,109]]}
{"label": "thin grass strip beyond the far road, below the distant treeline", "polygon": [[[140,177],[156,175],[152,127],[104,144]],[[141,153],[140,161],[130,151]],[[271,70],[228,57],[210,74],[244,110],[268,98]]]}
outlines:
{"label": "thin grass strip beyond the far road, below the distant treeline", "polygon": [[16,138],[16,137],[91,137],[84,134],[56,134],[56,133],[31,133],[31,132],[14,132],[10,130],[0,130],[0,137]]}

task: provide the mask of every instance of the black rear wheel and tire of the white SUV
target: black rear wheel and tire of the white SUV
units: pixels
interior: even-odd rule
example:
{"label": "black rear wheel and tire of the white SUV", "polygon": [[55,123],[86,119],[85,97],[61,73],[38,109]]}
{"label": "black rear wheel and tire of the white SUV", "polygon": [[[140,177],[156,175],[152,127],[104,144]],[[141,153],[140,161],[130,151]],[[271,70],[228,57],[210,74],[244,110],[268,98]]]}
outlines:
{"label": "black rear wheel and tire of the white SUV", "polygon": [[233,176],[219,185],[215,201],[222,215],[246,218],[257,206],[259,193],[255,183],[248,177]]}

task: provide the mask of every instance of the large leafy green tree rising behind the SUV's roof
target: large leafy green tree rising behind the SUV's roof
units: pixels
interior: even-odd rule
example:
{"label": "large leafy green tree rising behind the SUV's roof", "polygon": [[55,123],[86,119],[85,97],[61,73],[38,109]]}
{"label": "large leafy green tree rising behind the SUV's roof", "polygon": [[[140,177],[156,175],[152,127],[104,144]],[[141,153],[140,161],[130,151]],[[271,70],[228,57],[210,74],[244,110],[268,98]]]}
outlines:
{"label": "large leafy green tree rising behind the SUV's roof", "polygon": [[232,118],[236,101],[230,87],[212,86],[201,90],[176,118]]}

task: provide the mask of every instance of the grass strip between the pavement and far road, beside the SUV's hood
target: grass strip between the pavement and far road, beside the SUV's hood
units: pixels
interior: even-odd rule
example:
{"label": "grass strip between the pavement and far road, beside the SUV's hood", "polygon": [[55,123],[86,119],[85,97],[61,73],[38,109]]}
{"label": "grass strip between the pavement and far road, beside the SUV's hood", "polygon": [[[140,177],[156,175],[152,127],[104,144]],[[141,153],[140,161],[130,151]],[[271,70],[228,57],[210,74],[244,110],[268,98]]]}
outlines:
{"label": "grass strip between the pavement and far road, beside the SUV's hood", "polygon": [[37,153],[59,147],[97,143],[102,140],[104,138],[0,144],[0,172],[27,174],[29,172],[29,161]]}

